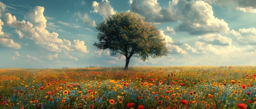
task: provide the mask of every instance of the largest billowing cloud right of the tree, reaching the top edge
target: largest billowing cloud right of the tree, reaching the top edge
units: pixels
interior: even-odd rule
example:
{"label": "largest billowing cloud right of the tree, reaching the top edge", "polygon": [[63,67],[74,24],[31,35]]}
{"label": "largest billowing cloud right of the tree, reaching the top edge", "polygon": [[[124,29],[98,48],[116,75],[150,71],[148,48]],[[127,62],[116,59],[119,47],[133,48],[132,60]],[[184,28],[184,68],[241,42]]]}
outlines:
{"label": "largest billowing cloud right of the tree, reaching the top edge", "polygon": [[176,27],[178,31],[186,31],[191,35],[203,35],[207,33],[228,32],[228,24],[213,16],[212,6],[199,0],[190,2],[180,0],[179,10],[181,24]]}

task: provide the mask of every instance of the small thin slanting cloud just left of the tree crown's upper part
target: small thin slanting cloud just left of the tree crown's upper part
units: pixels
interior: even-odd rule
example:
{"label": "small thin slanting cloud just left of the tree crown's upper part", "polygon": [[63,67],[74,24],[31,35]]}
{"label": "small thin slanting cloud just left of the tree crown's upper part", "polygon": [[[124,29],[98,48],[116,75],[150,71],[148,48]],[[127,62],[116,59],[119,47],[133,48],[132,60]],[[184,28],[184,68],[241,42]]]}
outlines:
{"label": "small thin slanting cloud just left of the tree crown's upper part", "polygon": [[92,27],[96,26],[95,20],[91,20],[87,13],[84,13],[84,15],[82,15],[80,12],[75,12],[74,16],[77,17],[77,19],[82,20],[82,22],[86,25],[90,25]]}

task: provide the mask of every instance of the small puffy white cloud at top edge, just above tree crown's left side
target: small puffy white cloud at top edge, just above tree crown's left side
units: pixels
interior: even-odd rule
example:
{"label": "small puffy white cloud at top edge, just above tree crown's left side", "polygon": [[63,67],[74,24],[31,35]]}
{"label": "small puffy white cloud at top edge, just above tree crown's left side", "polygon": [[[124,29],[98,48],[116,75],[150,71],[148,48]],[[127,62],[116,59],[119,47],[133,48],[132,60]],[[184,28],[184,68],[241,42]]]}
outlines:
{"label": "small puffy white cloud at top edge, just above tree crown's left side", "polygon": [[108,0],[102,0],[102,2],[98,3],[96,1],[93,1],[92,7],[93,7],[93,13],[98,13],[104,17],[108,17],[109,15],[113,15],[116,11],[114,11],[114,8],[109,4],[110,2]]}

